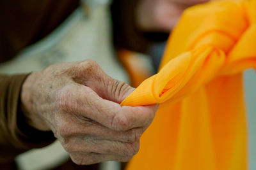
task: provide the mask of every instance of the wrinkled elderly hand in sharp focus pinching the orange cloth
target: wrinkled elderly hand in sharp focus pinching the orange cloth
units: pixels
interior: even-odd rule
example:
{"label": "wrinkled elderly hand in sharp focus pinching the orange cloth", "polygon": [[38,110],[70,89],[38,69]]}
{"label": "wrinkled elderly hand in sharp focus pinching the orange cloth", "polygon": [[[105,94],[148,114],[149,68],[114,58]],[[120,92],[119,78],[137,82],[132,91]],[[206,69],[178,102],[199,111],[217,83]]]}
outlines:
{"label": "wrinkled elderly hand in sharp focus pinching the orange cloth", "polygon": [[127,161],[156,105],[121,107],[132,88],[109,77],[92,60],[55,64],[32,73],[22,87],[28,124],[54,132],[76,164]]}

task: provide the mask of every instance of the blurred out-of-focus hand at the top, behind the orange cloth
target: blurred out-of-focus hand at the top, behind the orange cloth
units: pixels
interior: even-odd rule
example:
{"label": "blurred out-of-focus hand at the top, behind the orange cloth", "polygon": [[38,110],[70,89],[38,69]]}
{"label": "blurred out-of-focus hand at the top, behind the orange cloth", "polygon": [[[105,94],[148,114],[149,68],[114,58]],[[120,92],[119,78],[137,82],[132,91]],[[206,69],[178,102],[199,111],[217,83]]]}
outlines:
{"label": "blurred out-of-focus hand at the top, behind the orange cloth", "polygon": [[209,0],[140,0],[136,10],[138,27],[143,31],[170,32],[189,6]]}

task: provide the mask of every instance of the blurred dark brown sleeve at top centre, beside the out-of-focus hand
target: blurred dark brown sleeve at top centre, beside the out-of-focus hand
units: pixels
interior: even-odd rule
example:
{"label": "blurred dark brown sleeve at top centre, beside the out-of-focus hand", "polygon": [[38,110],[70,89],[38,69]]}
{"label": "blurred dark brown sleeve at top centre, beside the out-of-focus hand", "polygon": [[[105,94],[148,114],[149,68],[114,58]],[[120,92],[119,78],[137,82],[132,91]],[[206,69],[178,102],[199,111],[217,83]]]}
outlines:
{"label": "blurred dark brown sleeve at top centre, beside the out-of-focus hand", "polygon": [[113,40],[116,48],[147,53],[151,45],[165,41],[169,34],[143,32],[138,29],[135,23],[138,2],[138,0],[113,0],[111,4]]}

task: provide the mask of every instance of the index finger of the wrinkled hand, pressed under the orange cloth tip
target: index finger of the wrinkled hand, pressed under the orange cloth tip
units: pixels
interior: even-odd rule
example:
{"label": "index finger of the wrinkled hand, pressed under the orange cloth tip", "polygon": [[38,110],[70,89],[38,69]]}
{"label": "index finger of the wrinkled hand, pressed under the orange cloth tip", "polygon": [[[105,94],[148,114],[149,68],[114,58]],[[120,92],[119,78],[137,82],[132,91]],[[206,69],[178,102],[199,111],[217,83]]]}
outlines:
{"label": "index finger of the wrinkled hand, pressed under the orange cloth tip", "polygon": [[[76,84],[72,87],[70,110],[81,117],[90,118],[115,131],[127,131],[136,127],[147,127],[152,122],[157,105],[120,106],[102,99],[90,87]],[[74,104],[75,103],[75,104]]]}

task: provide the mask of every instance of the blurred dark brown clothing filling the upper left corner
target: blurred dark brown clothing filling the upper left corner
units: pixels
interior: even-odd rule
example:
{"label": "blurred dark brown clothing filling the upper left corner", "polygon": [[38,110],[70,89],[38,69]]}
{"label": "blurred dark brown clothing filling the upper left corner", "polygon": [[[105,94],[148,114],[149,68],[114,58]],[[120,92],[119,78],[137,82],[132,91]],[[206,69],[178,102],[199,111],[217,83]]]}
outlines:
{"label": "blurred dark brown clothing filling the upper left corner", "polygon": [[0,62],[49,35],[79,6],[79,0],[0,1]]}

